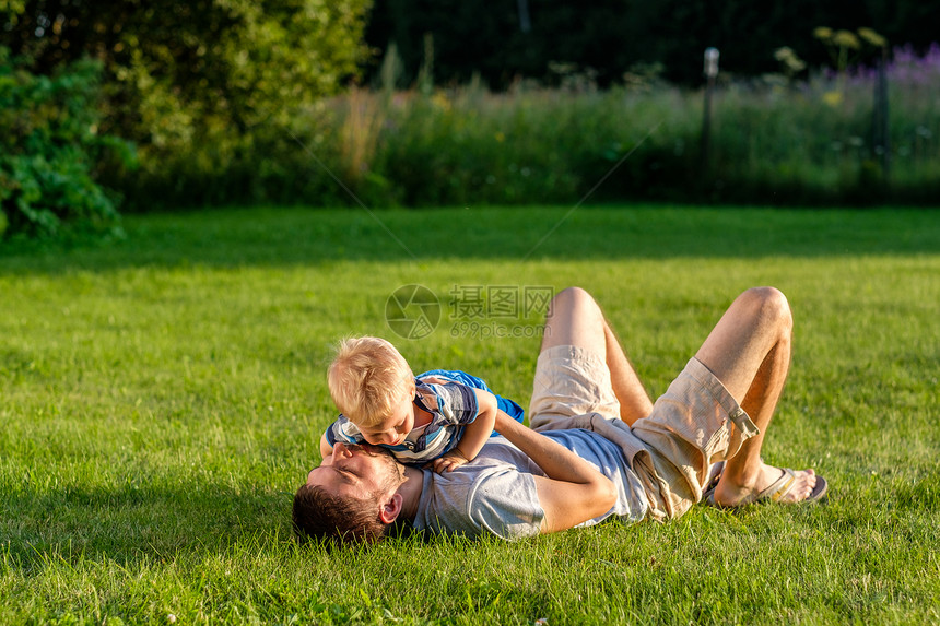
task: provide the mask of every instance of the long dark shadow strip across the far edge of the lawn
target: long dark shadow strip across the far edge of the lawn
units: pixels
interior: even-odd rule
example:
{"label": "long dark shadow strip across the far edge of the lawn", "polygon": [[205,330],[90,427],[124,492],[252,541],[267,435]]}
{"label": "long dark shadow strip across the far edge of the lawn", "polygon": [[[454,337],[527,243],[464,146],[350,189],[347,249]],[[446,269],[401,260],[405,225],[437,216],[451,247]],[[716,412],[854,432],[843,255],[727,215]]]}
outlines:
{"label": "long dark shadow strip across the far edge of the lawn", "polygon": [[940,211],[591,206],[211,210],[130,216],[108,245],[4,244],[0,273],[340,260],[762,258],[940,252]]}

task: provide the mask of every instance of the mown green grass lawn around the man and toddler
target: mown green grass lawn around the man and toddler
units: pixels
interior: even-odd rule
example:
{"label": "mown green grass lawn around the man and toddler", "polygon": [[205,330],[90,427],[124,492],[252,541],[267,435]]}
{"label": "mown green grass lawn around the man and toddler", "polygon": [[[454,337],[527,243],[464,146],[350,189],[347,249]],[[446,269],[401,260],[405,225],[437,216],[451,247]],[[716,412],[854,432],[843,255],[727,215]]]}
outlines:
{"label": "mown green grass lawn around the man and toddler", "polygon": [[[567,214],[213,211],[0,250],[0,623],[940,621],[940,212]],[[440,319],[406,340],[386,303],[415,283]],[[572,284],[654,395],[740,291],[782,288],[795,354],[764,456],[814,466],[829,504],[516,544],[294,544],[337,339],[387,336],[415,371],[462,368],[526,405],[541,311],[460,309]]]}

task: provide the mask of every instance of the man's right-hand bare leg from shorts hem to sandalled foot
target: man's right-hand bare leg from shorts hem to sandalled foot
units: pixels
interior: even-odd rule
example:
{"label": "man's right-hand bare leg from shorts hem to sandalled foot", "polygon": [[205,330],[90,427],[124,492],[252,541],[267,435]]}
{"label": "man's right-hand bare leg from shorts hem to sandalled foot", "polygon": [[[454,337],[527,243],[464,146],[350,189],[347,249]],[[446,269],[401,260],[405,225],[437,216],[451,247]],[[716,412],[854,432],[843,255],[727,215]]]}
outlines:
{"label": "man's right-hand bare leg from shorts hem to sandalled foot", "polygon": [[[725,464],[715,488],[718,504],[751,501],[782,475],[780,469],[761,460],[761,446],[789,369],[791,333],[792,316],[784,294],[771,287],[748,290],[731,304],[695,355],[761,430]],[[812,470],[797,472],[794,487],[780,501],[806,499],[815,483]]]}

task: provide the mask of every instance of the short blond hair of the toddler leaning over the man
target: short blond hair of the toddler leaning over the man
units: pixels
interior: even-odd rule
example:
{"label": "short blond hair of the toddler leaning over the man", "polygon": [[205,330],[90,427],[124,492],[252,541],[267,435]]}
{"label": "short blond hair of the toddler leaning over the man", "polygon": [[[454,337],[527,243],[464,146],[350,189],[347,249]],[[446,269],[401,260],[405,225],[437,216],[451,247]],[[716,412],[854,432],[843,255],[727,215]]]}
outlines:
{"label": "short blond hair of the toddler leaning over the man", "polygon": [[354,424],[375,426],[410,390],[414,374],[391,343],[377,336],[360,336],[340,342],[327,381],[343,415]]}

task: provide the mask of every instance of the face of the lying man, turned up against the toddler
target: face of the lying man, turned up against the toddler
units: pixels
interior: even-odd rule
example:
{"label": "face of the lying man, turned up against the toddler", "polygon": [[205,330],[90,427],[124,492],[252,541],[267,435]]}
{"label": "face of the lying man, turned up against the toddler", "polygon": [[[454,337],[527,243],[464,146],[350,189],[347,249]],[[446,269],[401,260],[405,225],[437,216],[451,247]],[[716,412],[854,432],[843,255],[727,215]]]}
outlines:
{"label": "face of the lying man, turned up against the toddler", "polygon": [[404,481],[404,469],[381,448],[337,441],[333,453],[307,474],[307,484],[356,499],[391,495]]}

